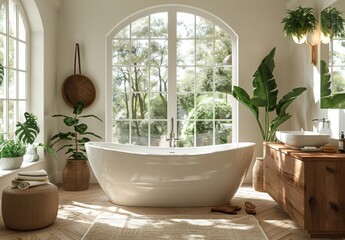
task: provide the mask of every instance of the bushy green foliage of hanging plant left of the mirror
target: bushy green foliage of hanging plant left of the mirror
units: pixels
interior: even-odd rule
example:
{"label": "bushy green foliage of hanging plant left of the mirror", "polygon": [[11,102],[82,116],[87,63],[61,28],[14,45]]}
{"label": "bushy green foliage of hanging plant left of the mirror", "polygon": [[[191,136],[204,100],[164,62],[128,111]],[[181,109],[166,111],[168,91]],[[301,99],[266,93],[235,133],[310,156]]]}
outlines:
{"label": "bushy green foliage of hanging plant left of the mirror", "polygon": [[314,9],[299,6],[295,10],[287,10],[287,16],[282,19],[284,34],[288,38],[295,36],[301,40],[307,33],[313,33],[316,29],[317,20]]}

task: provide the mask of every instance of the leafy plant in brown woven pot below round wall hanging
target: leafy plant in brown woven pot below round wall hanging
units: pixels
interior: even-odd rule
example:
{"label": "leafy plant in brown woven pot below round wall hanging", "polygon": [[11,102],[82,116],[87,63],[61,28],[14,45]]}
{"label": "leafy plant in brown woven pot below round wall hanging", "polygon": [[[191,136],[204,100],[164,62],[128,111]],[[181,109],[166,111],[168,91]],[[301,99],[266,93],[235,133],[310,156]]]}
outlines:
{"label": "leafy plant in brown woven pot below round wall hanging", "polygon": [[90,141],[89,136],[102,139],[97,134],[87,131],[87,124],[82,123],[81,120],[95,118],[103,121],[95,115],[82,115],[83,109],[84,103],[79,101],[73,106],[73,116],[53,115],[53,117],[63,118],[65,126],[71,129],[68,132],[59,132],[50,139],[50,147],[62,143],[63,145],[56,151],[65,149],[65,154],[68,155],[62,172],[63,189],[68,191],[81,191],[89,188],[90,169],[87,163],[85,143]]}

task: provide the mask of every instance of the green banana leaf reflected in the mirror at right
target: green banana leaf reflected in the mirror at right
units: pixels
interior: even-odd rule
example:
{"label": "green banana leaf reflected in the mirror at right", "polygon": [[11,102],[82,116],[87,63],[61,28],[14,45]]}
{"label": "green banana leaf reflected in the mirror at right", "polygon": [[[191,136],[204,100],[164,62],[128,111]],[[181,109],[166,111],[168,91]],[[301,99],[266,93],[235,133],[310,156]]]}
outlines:
{"label": "green banana leaf reflected in the mirror at right", "polygon": [[345,104],[345,93],[332,94],[331,74],[324,60],[320,61],[321,75],[321,108],[343,108]]}

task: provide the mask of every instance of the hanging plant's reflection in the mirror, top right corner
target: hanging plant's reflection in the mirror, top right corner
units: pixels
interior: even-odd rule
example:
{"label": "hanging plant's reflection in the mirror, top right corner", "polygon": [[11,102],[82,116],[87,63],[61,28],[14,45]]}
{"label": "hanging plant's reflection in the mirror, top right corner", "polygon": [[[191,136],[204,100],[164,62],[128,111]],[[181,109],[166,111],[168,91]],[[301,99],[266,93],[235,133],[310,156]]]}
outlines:
{"label": "hanging plant's reflection in the mirror, top right corner", "polygon": [[328,7],[321,11],[321,31],[325,36],[343,37],[345,35],[343,13]]}

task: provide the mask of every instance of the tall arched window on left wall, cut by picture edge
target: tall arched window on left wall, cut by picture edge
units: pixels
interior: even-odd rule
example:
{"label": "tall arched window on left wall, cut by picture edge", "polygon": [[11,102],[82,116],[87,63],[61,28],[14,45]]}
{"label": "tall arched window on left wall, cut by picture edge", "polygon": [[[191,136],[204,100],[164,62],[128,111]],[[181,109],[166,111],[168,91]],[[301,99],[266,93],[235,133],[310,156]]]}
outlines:
{"label": "tall arched window on left wall, cut by picture edge", "polygon": [[4,79],[0,86],[0,134],[10,135],[27,105],[27,24],[19,2],[0,3],[0,63]]}

